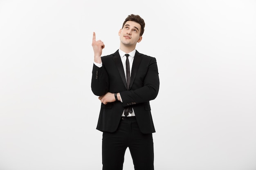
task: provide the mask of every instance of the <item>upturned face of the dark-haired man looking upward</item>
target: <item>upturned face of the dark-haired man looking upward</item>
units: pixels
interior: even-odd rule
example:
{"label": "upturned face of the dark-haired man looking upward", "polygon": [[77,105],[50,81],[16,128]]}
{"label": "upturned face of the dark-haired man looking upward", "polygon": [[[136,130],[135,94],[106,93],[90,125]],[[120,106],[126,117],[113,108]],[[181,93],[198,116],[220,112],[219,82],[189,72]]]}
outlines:
{"label": "upturned face of the dark-haired man looking upward", "polygon": [[137,42],[140,42],[142,37],[139,36],[141,26],[134,21],[127,21],[124,27],[120,29],[118,35],[120,36],[121,44],[124,46],[136,46]]}

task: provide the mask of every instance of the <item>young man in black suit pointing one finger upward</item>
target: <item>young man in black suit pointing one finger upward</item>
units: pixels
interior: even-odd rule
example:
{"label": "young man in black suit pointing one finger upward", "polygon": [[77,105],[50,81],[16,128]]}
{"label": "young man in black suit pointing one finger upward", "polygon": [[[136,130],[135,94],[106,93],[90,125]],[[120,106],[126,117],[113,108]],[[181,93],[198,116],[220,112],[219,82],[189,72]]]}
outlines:
{"label": "young man in black suit pointing one finger upward", "polygon": [[93,33],[91,87],[101,101],[97,130],[103,132],[103,170],[122,170],[127,147],[136,170],[154,169],[149,101],[157,97],[159,76],[156,59],[135,49],[144,26],[139,15],[128,15],[119,31],[119,50],[103,57],[105,45]]}

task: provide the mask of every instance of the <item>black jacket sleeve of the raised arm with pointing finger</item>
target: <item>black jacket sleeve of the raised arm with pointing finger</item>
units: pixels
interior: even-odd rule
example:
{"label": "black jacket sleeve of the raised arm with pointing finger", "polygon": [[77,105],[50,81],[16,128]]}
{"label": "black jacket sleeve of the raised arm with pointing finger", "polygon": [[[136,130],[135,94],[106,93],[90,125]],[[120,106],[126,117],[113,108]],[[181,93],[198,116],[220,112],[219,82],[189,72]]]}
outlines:
{"label": "black jacket sleeve of the raised arm with pointing finger", "polygon": [[98,67],[93,64],[92,68],[92,93],[97,96],[105,95],[108,92],[109,82],[108,73],[104,67]]}

